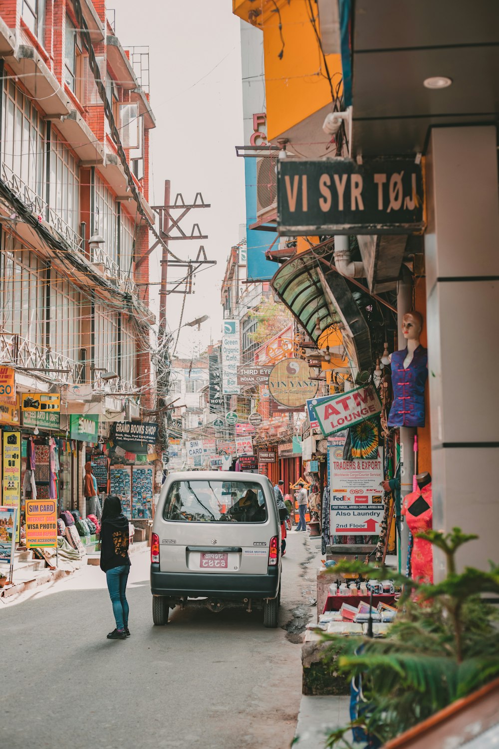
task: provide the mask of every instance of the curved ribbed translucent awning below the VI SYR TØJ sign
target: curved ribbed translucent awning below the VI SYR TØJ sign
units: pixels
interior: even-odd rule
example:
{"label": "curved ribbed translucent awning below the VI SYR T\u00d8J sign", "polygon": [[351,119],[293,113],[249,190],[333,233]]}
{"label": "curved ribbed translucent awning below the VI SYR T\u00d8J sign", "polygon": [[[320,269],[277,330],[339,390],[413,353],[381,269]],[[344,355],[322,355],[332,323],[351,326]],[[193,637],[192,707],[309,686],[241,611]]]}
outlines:
{"label": "curved ribbed translucent awning below the VI SYR T\u00d8J sign", "polygon": [[360,372],[370,369],[369,327],[359,307],[366,295],[337,273],[332,249],[316,247],[295,255],[281,265],[271,283],[314,343],[319,339],[314,333],[317,318],[321,330],[337,325],[349,359]]}

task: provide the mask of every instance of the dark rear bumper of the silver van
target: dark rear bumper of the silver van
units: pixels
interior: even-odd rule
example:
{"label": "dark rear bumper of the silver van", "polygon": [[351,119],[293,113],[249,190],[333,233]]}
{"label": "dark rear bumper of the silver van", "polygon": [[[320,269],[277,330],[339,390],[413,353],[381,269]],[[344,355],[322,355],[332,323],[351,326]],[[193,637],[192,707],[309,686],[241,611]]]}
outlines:
{"label": "dark rear bumper of the silver van", "polygon": [[162,572],[159,564],[150,565],[153,595],[189,596],[189,598],[275,598],[279,588],[279,568],[269,567],[267,574],[230,574],[224,572]]}

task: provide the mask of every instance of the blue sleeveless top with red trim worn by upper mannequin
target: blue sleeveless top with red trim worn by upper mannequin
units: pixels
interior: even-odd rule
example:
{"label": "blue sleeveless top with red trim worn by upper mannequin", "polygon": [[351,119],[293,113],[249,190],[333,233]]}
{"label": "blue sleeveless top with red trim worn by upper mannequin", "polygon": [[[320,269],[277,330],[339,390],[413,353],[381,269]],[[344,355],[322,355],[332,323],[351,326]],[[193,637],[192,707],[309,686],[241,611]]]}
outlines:
{"label": "blue sleeveless top with red trim worn by upper mannequin", "polygon": [[428,378],[428,351],[418,346],[407,368],[404,360],[407,348],[391,355],[391,383],[394,401],[391,404],[388,426],[424,426],[424,388]]}

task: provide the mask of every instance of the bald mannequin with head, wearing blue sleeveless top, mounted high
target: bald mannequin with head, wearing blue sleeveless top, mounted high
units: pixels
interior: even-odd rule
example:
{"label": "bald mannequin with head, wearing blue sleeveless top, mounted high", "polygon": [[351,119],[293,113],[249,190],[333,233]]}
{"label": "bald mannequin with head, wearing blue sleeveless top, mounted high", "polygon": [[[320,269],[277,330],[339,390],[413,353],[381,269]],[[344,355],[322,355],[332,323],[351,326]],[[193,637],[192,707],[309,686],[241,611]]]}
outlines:
{"label": "bald mannequin with head, wearing blue sleeveless top, mounted high", "polygon": [[424,388],[428,378],[428,352],[420,345],[423,317],[407,312],[402,318],[402,334],[407,348],[391,355],[391,382],[394,401],[388,426],[424,426]]}

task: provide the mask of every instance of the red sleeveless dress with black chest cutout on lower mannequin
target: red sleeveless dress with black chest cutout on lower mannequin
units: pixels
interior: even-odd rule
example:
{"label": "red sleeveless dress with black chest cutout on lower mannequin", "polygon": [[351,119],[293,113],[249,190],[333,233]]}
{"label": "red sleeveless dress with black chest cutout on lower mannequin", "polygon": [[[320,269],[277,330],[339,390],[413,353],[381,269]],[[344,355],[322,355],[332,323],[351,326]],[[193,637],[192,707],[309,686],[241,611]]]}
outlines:
{"label": "red sleeveless dress with black chest cutout on lower mannequin", "polygon": [[429,541],[418,539],[417,533],[432,528],[433,503],[431,483],[407,494],[402,504],[402,515],[414,537],[411,552],[411,577],[423,583],[433,582],[433,547]]}

